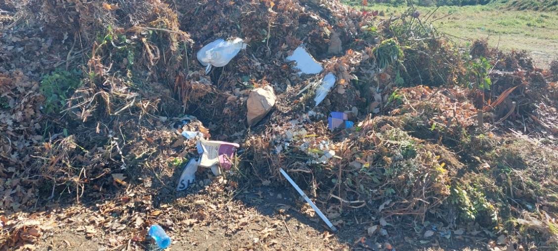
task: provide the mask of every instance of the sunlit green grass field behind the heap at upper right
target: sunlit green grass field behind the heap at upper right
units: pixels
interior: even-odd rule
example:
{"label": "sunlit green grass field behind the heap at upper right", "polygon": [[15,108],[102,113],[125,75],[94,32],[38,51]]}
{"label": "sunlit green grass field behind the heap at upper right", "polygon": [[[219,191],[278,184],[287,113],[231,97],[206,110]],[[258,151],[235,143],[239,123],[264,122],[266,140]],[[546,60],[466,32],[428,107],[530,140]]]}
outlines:
{"label": "sunlit green grass field behind the heap at upper right", "polygon": [[[383,11],[384,18],[397,16],[407,8],[387,4],[362,7],[354,1],[348,4],[355,8]],[[424,16],[436,7],[418,9]],[[540,67],[548,67],[552,60],[558,58],[558,12],[519,11],[496,3],[442,6],[430,17],[430,21],[439,32],[464,46],[477,38],[488,38],[490,46],[504,51],[526,50]]]}

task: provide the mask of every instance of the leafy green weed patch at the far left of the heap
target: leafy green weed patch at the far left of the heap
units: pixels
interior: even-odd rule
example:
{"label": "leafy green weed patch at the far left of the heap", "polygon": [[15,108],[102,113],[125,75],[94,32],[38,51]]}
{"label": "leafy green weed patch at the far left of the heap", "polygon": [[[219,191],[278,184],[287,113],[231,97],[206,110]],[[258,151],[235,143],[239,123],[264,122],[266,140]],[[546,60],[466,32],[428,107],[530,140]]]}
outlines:
{"label": "leafy green weed patch at the far left of the heap", "polygon": [[74,91],[81,86],[80,70],[57,69],[42,76],[39,91],[45,96],[44,111],[60,112]]}

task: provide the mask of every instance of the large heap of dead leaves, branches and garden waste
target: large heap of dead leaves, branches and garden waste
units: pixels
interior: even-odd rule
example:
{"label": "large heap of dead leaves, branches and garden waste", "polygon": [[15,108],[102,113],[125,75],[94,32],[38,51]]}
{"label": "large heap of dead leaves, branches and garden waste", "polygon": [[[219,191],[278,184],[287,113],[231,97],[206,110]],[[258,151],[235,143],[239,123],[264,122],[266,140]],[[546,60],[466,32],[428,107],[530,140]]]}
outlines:
{"label": "large heap of dead leaves, branches and garden waste", "polygon": [[[151,223],[176,233],[214,224],[247,188],[273,183],[286,195],[280,168],[341,233],[359,229],[353,248],[400,231],[416,247],[450,247],[453,237],[494,250],[558,247],[558,63],[543,70],[525,51],[485,40],[464,48],[433,25],[436,10],[410,4],[387,18],[295,0],[33,0],[0,9],[11,14],[0,19],[1,250],[31,248],[56,224],[40,215],[73,215],[72,205],[127,222],[95,218],[82,229],[88,238],[143,247]],[[196,52],[229,37],[247,50],[206,75]],[[303,44],[324,66],[318,75],[285,61]],[[335,86],[314,107],[315,90],[300,91],[329,72]],[[268,85],[275,108],[248,126],[249,93]],[[354,127],[328,129],[331,111]],[[186,115],[240,149],[230,171],[200,168],[192,188],[177,192],[182,166],[197,156],[177,130]],[[219,206],[184,203],[192,193]],[[240,219],[249,221],[219,220]]]}

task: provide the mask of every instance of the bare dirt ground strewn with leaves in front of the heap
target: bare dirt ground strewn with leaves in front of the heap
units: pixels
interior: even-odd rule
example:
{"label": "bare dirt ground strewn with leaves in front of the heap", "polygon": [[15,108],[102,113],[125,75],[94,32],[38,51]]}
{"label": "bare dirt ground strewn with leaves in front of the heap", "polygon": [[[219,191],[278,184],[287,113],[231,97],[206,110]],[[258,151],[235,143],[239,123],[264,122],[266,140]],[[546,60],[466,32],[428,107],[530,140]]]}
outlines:
{"label": "bare dirt ground strewn with leaves in front of the heap", "polygon": [[[469,246],[482,247],[485,243],[485,238],[461,237],[449,242],[432,238],[421,244],[420,238],[412,238],[412,230],[410,233],[391,233],[392,229],[404,229],[396,225],[405,223],[395,222],[394,228],[386,228],[387,236],[368,236],[362,224],[364,221],[374,222],[374,215],[359,213],[350,214],[353,219],[348,215],[338,216],[335,222],[346,224],[339,224],[339,232],[332,233],[292,192],[287,187],[261,186],[240,190],[234,198],[219,196],[220,199],[213,201],[204,194],[189,194],[177,198],[174,203],[162,204],[163,213],[153,216],[152,220],[162,222],[172,238],[172,245],[167,250],[482,250]],[[225,204],[220,204],[223,201]],[[189,202],[200,205],[199,210],[179,209],[182,203]],[[220,205],[220,208],[214,205]],[[215,214],[219,209],[226,213]],[[45,214],[54,216],[61,211],[51,209]],[[124,222],[116,227],[124,232],[138,233],[133,239],[122,242],[110,232],[104,233],[92,226],[102,213],[97,206],[73,205],[64,209],[65,215],[68,211],[75,214],[60,214],[56,223],[53,222],[56,226],[37,242],[36,250],[157,249],[151,240],[143,239],[145,230],[134,229],[138,222]],[[199,221],[195,219],[196,215],[208,215],[208,219]],[[117,220],[118,213],[109,214],[107,218]],[[182,220],[172,223],[171,219]],[[105,218],[105,222],[113,220]],[[440,241],[444,242],[444,249],[438,247]]]}

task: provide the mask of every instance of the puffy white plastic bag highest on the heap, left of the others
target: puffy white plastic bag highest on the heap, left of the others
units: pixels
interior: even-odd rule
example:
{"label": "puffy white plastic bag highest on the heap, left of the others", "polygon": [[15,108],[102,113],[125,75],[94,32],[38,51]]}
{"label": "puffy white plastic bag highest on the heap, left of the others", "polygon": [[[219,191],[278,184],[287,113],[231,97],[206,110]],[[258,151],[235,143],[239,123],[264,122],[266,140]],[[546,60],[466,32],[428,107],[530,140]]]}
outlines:
{"label": "puffy white plastic bag highest on the heap, left of the others", "polygon": [[233,41],[224,41],[222,39],[208,43],[198,51],[198,61],[205,66],[205,74],[211,71],[211,66],[223,67],[230,60],[237,56],[240,50],[246,48],[246,43],[241,38],[235,38]]}

